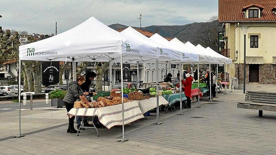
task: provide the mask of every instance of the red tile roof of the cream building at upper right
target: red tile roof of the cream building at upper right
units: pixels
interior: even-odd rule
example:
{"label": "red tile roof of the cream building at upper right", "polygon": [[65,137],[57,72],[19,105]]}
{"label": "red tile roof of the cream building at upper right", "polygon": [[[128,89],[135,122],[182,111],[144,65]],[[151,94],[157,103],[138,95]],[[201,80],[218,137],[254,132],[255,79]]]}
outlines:
{"label": "red tile roof of the cream building at upper right", "polygon": [[[261,18],[244,17],[243,9],[252,6],[263,9]],[[219,0],[219,22],[275,22],[275,6],[276,0]]]}

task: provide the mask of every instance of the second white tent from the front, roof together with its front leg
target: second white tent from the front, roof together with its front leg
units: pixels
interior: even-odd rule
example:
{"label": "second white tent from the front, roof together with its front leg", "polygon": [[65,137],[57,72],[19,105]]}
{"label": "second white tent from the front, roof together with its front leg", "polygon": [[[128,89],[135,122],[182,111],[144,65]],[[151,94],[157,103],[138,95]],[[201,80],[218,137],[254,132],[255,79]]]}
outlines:
{"label": "second white tent from the front, roof together with its front leg", "polygon": [[[138,39],[139,41],[145,43],[145,44],[150,44],[151,46],[156,47],[156,52],[157,52],[157,59],[155,61],[149,60],[147,62],[149,63],[156,63],[156,84],[157,84],[157,90],[158,90],[158,62],[167,62],[167,61],[174,61],[174,60],[180,60],[181,59],[181,54],[169,47],[167,47],[164,44],[159,44],[155,42],[154,40],[149,39],[145,35],[141,34],[140,32],[136,31],[132,27],[128,27],[125,30],[123,30],[121,33],[128,35],[130,37],[133,37],[135,39]],[[163,37],[162,37],[163,38]],[[138,73],[138,72],[137,72]],[[159,96],[158,96],[158,91],[157,91],[157,121],[156,124],[160,124],[159,122]]]}

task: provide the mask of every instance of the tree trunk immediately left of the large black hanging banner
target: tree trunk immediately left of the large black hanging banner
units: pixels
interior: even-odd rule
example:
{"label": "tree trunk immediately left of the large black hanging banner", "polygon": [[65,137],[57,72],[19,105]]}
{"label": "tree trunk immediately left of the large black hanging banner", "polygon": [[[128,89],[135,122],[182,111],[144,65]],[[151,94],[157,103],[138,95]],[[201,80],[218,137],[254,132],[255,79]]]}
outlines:
{"label": "tree trunk immediately left of the large black hanging banner", "polygon": [[41,62],[35,61],[32,65],[32,72],[34,77],[34,93],[40,94],[41,93]]}

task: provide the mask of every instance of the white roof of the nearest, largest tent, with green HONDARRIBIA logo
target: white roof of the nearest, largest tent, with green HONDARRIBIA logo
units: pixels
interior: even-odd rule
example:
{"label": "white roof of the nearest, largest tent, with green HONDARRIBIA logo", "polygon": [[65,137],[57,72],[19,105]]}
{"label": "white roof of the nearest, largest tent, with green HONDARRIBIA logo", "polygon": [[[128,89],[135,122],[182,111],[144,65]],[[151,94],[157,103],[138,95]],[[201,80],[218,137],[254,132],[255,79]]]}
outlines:
{"label": "white roof of the nearest, largest tent, with green HONDARRIBIA logo", "polygon": [[119,61],[121,54],[124,62],[155,59],[156,47],[121,34],[95,17],[56,36],[19,46],[21,60]]}

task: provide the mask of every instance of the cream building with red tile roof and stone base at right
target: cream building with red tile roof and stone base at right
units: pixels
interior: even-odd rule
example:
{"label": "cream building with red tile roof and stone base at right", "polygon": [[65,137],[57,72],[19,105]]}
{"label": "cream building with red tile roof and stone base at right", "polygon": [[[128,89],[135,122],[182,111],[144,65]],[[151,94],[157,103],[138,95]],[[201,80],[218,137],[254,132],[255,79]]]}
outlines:
{"label": "cream building with red tile roof and stone base at right", "polygon": [[246,83],[276,84],[276,0],[219,0],[219,22],[230,76],[243,84],[245,48]]}

